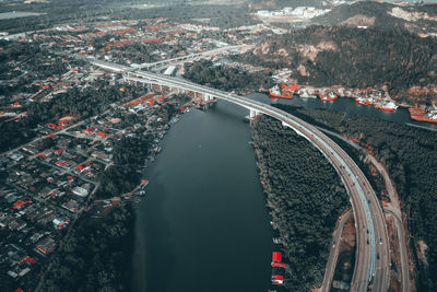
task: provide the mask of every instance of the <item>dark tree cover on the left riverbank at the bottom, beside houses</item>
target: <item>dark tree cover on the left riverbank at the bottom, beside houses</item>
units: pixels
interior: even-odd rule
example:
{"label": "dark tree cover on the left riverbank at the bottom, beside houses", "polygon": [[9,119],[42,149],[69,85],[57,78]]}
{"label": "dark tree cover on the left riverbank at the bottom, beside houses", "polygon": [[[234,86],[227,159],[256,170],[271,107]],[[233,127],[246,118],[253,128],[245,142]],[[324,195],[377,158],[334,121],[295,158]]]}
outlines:
{"label": "dark tree cover on the left riverbank at the bottom, beside houses", "polygon": [[39,291],[130,291],[133,224],[127,205],[101,220],[79,219],[62,238]]}

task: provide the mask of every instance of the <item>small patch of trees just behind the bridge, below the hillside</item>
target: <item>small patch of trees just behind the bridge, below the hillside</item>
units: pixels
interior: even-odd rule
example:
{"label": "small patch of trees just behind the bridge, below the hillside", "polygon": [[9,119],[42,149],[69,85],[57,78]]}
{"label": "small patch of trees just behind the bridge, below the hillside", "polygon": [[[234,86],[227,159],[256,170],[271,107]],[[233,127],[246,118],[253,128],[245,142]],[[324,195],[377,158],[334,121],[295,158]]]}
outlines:
{"label": "small patch of trees just behind the bridge, below the hillside", "polygon": [[214,65],[212,61],[185,63],[185,78],[194,83],[223,91],[256,91],[260,86],[270,89],[273,81],[270,73],[248,72],[247,70]]}

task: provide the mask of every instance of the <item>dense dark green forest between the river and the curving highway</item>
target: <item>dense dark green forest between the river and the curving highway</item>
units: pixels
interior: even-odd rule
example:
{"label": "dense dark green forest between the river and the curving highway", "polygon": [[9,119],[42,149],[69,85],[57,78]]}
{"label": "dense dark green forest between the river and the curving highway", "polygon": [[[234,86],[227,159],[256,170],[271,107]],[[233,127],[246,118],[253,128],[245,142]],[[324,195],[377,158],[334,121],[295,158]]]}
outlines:
{"label": "dense dark green forest between the river and the curving highway", "polygon": [[349,196],[328,160],[270,117],[253,124],[253,145],[273,226],[290,268],[286,288],[320,285],[336,219]]}

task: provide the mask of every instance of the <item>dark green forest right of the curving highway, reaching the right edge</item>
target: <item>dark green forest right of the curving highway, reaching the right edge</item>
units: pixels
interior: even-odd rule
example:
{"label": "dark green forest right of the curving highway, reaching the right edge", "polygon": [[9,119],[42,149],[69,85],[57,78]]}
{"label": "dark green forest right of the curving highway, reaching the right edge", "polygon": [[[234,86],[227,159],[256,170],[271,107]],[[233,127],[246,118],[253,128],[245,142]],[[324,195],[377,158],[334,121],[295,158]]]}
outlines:
{"label": "dark green forest right of the curving highway, reaching the right edge", "polygon": [[[283,107],[296,114],[296,109]],[[359,139],[363,147],[388,168],[393,179],[403,211],[409,218],[413,236],[411,248],[415,252],[424,243],[427,265],[416,258],[418,291],[437,290],[437,132],[417,127],[355,116],[345,119],[343,114],[327,109],[297,109],[300,117],[326,128]],[[363,165],[359,165],[363,168]],[[364,170],[368,173],[368,170]]]}

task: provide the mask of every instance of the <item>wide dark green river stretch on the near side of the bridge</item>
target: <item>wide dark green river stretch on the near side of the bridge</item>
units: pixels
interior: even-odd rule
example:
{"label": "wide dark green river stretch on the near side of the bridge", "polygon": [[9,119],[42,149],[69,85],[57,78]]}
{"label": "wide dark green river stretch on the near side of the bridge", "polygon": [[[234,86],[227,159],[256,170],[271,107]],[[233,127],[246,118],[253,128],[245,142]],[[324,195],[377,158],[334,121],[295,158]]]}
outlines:
{"label": "wide dark green river stretch on the near side of the bridge", "polygon": [[273,231],[247,110],[192,109],[162,141],[138,207],[134,291],[267,291]]}

